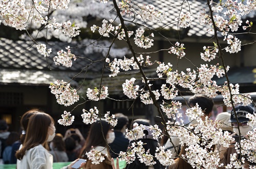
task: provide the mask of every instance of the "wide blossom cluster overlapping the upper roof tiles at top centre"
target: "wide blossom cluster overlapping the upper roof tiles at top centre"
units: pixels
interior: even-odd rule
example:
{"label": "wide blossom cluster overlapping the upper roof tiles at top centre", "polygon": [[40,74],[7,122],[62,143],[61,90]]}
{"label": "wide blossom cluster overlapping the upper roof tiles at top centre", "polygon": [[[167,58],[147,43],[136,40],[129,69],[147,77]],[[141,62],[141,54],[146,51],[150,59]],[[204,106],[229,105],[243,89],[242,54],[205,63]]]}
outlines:
{"label": "wide blossom cluster overlapping the upper roof tiles at top centre", "polygon": [[156,11],[155,6],[151,4],[140,7],[137,16],[143,20],[161,22],[167,17],[167,12]]}

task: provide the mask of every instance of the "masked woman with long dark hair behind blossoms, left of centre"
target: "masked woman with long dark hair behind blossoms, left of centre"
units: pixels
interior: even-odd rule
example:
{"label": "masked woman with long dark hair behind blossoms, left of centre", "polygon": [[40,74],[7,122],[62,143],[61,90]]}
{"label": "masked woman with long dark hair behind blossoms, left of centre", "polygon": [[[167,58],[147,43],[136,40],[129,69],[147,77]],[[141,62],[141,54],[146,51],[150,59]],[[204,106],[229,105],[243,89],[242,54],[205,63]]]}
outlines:
{"label": "masked woman with long dark hair behind blossoms, left of centre", "polygon": [[[110,144],[115,139],[115,133],[113,127],[105,121],[97,120],[91,125],[86,143],[84,144],[80,158],[86,159],[87,162],[84,164],[85,169],[112,169],[111,156],[107,143]],[[104,160],[99,164],[93,164],[92,160],[89,160],[86,153],[93,149],[101,151],[104,155]]]}

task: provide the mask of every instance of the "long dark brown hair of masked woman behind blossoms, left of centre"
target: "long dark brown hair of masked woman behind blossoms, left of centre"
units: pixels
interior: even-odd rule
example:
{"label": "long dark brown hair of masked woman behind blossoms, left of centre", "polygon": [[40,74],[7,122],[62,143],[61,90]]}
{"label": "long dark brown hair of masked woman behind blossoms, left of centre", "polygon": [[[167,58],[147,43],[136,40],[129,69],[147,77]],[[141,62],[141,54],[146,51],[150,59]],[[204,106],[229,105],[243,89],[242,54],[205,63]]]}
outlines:
{"label": "long dark brown hair of masked woman behind blossoms, left of centre", "polygon": [[[102,125],[102,128],[101,128]],[[87,159],[86,153],[91,151],[92,146],[102,146],[106,147],[106,142],[104,138],[106,138],[106,134],[108,134],[108,131],[111,129],[111,125],[108,122],[105,121],[99,121],[97,120],[91,125],[88,137],[86,139],[86,143],[84,144],[81,153],[80,158]],[[103,135],[102,135],[103,132]]]}

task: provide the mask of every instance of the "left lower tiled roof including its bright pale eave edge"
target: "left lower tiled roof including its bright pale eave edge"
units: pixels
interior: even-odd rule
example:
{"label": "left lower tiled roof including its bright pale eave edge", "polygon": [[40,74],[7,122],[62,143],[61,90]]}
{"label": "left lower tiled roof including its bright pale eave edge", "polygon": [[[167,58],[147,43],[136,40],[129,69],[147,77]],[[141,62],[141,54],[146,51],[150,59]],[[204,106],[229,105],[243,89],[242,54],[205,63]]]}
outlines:
{"label": "left lower tiled roof including its bright pale eave edge", "polygon": [[[50,42],[53,44],[53,42]],[[65,42],[54,42],[55,45],[49,44],[52,48],[50,57],[45,58],[39,54],[36,49],[36,44],[32,41],[13,41],[5,38],[0,39],[0,83],[23,83],[24,85],[37,84],[49,85],[56,80],[69,81],[77,75],[84,67],[91,64],[91,61],[102,59],[102,55],[95,53],[86,55],[88,59],[81,59],[78,57],[85,57],[83,49],[71,49],[77,57],[73,61],[75,66],[67,68],[62,65],[55,65],[53,57],[57,55],[57,51],[65,49],[68,45],[72,47],[75,44]],[[49,66],[51,70],[49,69]],[[103,61],[97,62],[89,66],[89,74],[86,78],[93,78],[93,73],[102,70]],[[85,70],[84,70],[85,71]],[[79,77],[80,76],[80,77]],[[84,73],[78,77],[83,78]],[[77,85],[77,82],[72,80],[71,84]]]}

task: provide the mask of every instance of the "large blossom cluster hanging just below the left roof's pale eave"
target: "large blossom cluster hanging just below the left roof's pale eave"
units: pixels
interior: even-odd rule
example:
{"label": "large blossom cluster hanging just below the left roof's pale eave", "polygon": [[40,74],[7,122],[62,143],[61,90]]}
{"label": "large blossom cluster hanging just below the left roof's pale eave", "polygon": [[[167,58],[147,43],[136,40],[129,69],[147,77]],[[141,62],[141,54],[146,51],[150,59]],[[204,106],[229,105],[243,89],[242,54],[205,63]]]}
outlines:
{"label": "large blossom cluster hanging just below the left roof's pale eave", "polygon": [[70,83],[57,80],[57,84],[51,83],[51,93],[55,95],[57,102],[65,106],[70,106],[79,100],[76,89],[71,88]]}

